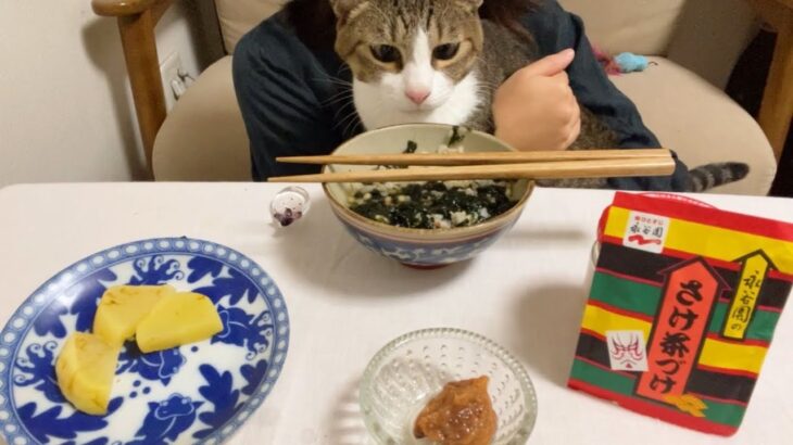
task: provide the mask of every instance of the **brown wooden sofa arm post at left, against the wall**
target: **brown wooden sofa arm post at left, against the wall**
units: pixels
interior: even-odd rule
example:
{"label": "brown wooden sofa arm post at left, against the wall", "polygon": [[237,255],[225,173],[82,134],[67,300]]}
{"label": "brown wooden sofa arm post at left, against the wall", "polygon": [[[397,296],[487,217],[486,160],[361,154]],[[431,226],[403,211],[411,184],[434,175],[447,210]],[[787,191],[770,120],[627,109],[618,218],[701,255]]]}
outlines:
{"label": "brown wooden sofa arm post at left, against the wall", "polygon": [[118,21],[135,112],[150,175],[154,140],[166,115],[154,27],[173,2],[173,0],[91,0],[93,12],[98,15],[116,17]]}

